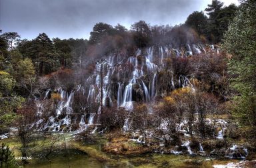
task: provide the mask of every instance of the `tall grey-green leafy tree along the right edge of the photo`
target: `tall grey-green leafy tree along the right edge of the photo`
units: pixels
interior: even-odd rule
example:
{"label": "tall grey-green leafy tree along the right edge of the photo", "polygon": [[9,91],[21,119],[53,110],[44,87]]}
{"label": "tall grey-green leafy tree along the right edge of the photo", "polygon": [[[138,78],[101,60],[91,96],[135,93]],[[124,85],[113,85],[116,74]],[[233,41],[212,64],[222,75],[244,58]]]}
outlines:
{"label": "tall grey-green leafy tree along the right edge of the photo", "polygon": [[243,1],[229,25],[223,48],[232,54],[229,59],[231,86],[240,95],[235,97],[233,112],[243,126],[249,126],[255,138],[256,126],[256,3]]}

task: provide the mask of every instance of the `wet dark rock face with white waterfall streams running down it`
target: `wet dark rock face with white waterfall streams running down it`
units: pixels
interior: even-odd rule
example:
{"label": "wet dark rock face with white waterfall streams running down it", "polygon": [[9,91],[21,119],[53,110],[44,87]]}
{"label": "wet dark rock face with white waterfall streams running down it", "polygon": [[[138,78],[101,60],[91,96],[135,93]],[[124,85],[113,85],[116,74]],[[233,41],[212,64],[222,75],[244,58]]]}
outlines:
{"label": "wet dark rock face with white waterfall streams running down it", "polygon": [[[181,75],[184,73],[177,74],[176,69],[166,72],[166,69],[170,68],[166,60],[175,56],[177,58],[187,56],[184,54],[185,50],[189,55],[206,53],[205,45],[187,44],[182,50],[173,47],[175,46],[169,44],[138,48],[136,54],[129,57],[121,53],[109,54],[96,60],[86,82],[73,86],[75,82],[72,79],[67,83],[61,80],[61,84],[58,85],[61,88],[45,88],[43,100],[52,100],[54,97],[55,109],[51,110],[51,114],[41,110],[46,120],[41,129],[47,130],[49,129],[47,127],[51,127],[53,131],[63,131],[62,125],[65,125],[68,127],[65,131],[73,131],[77,126],[71,127],[71,124],[79,124],[81,120],[78,114],[101,112],[101,98],[103,98],[103,106],[107,108],[125,108],[132,111],[135,102],[148,104],[161,95],[167,95],[175,88],[192,86],[189,78]],[[212,50],[215,48],[213,47]],[[178,67],[178,69],[183,68]],[[64,77],[66,79],[69,76]],[[43,106],[43,102],[39,104]],[[73,114],[78,118],[73,118]],[[85,122],[88,123],[95,124],[95,122]]]}

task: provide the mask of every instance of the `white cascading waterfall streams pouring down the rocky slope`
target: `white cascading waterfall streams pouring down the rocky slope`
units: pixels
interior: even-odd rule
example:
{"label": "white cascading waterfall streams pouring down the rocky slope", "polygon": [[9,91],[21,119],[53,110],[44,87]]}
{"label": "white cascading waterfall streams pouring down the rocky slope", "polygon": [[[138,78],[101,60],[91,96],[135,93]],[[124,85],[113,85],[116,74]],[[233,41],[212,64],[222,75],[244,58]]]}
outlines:
{"label": "white cascading waterfall streams pouring down the rocky slope", "polygon": [[[193,44],[192,47],[188,44],[186,48],[189,54],[205,52],[205,47],[200,44]],[[217,51],[215,46],[211,46],[211,48]],[[170,56],[186,55],[184,55],[183,51],[171,46],[151,46],[143,50],[138,49],[135,56],[129,56],[128,58],[118,54],[105,56],[97,60],[95,70],[87,78],[85,84],[79,84],[71,92],[67,92],[63,88],[51,88],[45,92],[43,96],[45,100],[49,98],[50,92],[55,92],[60,98],[57,100],[55,114],[48,116],[45,123],[40,122],[37,125],[41,124],[43,125],[41,129],[49,131],[71,131],[73,130],[73,125],[79,125],[80,127],[91,126],[96,123],[93,120],[97,110],[89,107],[95,104],[95,106],[99,106],[97,112],[101,112],[101,99],[103,100],[103,106],[113,107],[116,104],[117,107],[124,107],[128,111],[133,110],[134,101],[154,102],[154,98],[159,92],[159,71],[163,70],[165,66],[163,64],[164,58],[169,58]],[[193,89],[193,84],[186,76],[179,76],[179,79],[175,79],[172,76],[171,89],[174,90],[177,86],[175,84],[178,83],[179,87]],[[103,95],[101,95],[101,90]],[[86,112],[87,114],[84,111],[83,115],[76,114],[77,111],[73,109],[75,94],[77,93],[85,97],[85,106],[81,107],[81,111],[89,109],[89,112]],[[139,96],[133,94],[139,94]],[[142,99],[137,97],[142,97]],[[41,116],[44,107],[40,101],[38,102],[37,114]],[[86,115],[89,115],[88,120],[85,118]],[[41,118],[40,121],[42,121]],[[129,121],[129,118],[125,120],[124,129],[129,126]]]}

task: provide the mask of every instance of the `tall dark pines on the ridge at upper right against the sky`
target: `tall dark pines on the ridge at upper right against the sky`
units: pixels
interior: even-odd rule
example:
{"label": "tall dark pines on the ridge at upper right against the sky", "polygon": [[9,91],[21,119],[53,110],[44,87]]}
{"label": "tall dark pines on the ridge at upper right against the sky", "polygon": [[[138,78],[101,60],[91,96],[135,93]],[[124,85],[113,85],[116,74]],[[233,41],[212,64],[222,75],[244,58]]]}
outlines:
{"label": "tall dark pines on the ridge at upper right against the sky", "polygon": [[201,11],[195,11],[185,21],[187,27],[195,29],[201,41],[217,43],[221,42],[229,23],[235,17],[237,7],[234,4],[223,7],[223,3],[213,0],[205,9],[208,17]]}

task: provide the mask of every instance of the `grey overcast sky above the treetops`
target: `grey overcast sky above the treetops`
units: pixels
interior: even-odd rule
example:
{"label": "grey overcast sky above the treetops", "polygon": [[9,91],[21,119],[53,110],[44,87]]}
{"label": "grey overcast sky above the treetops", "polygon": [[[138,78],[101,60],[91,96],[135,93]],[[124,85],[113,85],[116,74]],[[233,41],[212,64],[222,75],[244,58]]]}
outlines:
{"label": "grey overcast sky above the treetops", "polygon": [[[237,0],[223,0],[225,5]],[[140,20],[150,25],[178,25],[193,11],[203,11],[211,0],[0,0],[0,29],[22,39],[39,33],[50,38],[89,39],[95,23],[130,26]],[[1,35],[1,33],[0,33]]]}

